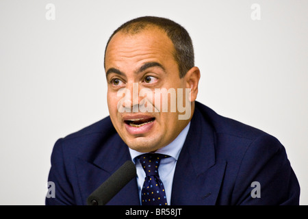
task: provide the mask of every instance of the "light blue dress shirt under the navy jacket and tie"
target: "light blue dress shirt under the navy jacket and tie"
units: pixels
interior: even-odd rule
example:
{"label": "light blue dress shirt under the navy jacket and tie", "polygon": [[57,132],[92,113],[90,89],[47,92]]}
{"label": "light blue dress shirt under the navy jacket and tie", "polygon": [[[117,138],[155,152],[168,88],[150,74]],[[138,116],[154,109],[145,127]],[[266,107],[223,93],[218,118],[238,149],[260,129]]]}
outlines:
{"label": "light blue dress shirt under the navy jacket and tie", "polygon": [[[177,159],[179,158],[179,154],[181,153],[181,149],[183,147],[189,129],[190,123],[188,123],[188,125],[181,131],[181,133],[179,133],[179,136],[177,136],[177,138],[175,138],[173,142],[171,142],[167,146],[164,146],[162,149],[158,149],[157,151],[155,151],[155,153],[161,153],[170,156],[162,159],[158,167],[159,178],[162,180],[162,183],[164,183],[168,205],[170,205],[171,203],[171,190],[173,176],[175,175],[175,166],[177,164]],[[137,157],[144,153],[140,153],[133,149],[129,149],[129,153],[131,154],[131,159],[133,160],[133,163],[136,164],[137,184],[139,191],[139,200],[141,204],[141,188],[143,186],[144,178],[146,177],[146,175]]]}

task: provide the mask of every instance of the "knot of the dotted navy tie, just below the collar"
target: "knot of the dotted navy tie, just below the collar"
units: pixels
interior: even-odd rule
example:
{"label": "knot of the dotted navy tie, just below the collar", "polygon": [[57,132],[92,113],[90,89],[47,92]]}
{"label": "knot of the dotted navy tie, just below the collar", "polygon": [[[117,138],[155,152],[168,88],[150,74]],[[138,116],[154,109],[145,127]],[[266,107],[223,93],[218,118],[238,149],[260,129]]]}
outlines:
{"label": "knot of the dotted navy tie, just below the collar", "polygon": [[158,167],[160,161],[166,157],[170,156],[162,155],[160,153],[146,153],[144,155],[140,155],[139,160],[146,176],[159,176]]}

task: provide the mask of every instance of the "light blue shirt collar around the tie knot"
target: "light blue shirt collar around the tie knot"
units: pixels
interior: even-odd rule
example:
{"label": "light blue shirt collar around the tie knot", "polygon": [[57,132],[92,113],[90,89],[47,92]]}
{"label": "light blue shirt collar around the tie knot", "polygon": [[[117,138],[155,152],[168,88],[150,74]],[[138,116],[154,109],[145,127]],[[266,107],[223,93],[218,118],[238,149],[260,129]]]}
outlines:
{"label": "light blue shirt collar around the tie knot", "polygon": [[[183,147],[189,129],[190,129],[190,123],[188,123],[188,125],[181,131],[181,133],[179,133],[179,136],[177,136],[175,140],[173,140],[167,146],[162,147],[162,149],[158,149],[157,151],[155,151],[155,153],[162,153],[164,155],[169,155],[170,157],[173,157],[175,158],[175,160],[177,160],[179,158],[179,153],[181,152],[181,149]],[[133,160],[134,163],[136,163],[135,162],[136,157],[144,154],[130,148],[129,148],[129,153],[131,154],[131,159]]]}

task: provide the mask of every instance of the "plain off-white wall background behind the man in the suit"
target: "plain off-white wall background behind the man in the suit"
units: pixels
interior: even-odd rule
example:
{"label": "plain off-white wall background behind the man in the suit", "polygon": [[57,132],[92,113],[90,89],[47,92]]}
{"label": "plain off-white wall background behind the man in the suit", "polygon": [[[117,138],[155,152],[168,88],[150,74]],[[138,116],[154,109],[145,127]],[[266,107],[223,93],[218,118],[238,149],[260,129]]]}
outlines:
{"label": "plain off-white wall background behind the man in the suit", "polygon": [[44,205],[55,141],[108,115],[107,39],[145,15],[188,30],[201,69],[197,100],[277,137],[308,205],[305,0],[0,0],[0,204]]}

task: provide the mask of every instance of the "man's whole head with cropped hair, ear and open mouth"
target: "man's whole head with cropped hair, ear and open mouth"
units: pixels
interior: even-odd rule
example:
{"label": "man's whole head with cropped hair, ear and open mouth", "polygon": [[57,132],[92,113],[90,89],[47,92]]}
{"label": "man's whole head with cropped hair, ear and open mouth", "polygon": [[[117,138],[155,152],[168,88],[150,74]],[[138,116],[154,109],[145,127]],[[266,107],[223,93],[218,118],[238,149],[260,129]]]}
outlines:
{"label": "man's whole head with cropped hair, ear and open mouth", "polygon": [[[105,71],[110,118],[131,149],[156,151],[190,122],[200,73],[190,36],[177,23],[142,17],[123,24],[107,42]],[[191,106],[184,120],[183,105]]]}

